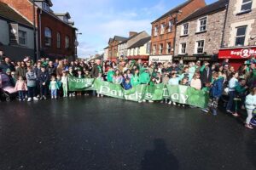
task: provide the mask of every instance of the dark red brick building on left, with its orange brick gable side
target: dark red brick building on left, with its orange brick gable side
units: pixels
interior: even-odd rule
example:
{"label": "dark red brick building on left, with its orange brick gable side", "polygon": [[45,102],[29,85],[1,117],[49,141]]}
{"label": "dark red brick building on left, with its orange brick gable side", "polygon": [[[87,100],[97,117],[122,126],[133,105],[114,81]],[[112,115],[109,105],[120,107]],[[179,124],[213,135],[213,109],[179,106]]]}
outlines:
{"label": "dark red brick building on left, with its orange brick gable side", "polygon": [[[32,0],[0,0],[9,4],[33,24]],[[70,14],[55,14],[50,0],[35,0],[35,25],[37,31],[37,57],[69,58],[76,56],[76,28]]]}

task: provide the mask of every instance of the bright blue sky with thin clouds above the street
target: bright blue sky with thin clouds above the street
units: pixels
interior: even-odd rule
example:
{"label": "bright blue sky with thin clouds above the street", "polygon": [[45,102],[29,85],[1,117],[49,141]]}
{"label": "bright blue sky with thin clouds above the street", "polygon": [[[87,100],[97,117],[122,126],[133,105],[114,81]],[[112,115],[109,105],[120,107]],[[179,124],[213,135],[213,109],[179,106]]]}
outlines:
{"label": "bright blue sky with thin clouds above the street", "polygon": [[[55,13],[69,12],[79,35],[81,58],[102,54],[108,39],[129,31],[151,33],[151,22],[185,0],[51,0]],[[217,0],[206,0],[213,3]]]}

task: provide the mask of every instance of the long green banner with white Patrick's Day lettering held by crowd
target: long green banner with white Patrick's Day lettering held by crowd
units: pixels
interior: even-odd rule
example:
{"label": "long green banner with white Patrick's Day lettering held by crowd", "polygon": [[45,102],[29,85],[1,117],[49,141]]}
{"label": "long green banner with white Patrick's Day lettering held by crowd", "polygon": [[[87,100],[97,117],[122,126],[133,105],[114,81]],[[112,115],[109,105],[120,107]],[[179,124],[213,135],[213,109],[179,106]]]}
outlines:
{"label": "long green banner with white Patrick's Day lettering held by crowd", "polygon": [[69,91],[96,90],[97,94],[137,102],[170,99],[179,104],[194,105],[201,108],[206,108],[209,100],[209,95],[202,90],[195,90],[195,88],[188,86],[165,85],[163,83],[154,86],[137,85],[130,90],[125,90],[119,84],[113,84],[112,82],[70,77],[68,79],[68,88]]}

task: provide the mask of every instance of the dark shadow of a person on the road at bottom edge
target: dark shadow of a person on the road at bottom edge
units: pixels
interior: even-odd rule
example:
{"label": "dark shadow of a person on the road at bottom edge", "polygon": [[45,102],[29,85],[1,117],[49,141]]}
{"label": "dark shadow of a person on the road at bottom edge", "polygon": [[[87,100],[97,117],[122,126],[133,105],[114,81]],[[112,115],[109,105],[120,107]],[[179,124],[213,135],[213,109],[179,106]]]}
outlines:
{"label": "dark shadow of a person on the road at bottom edge", "polygon": [[142,170],[177,170],[179,167],[163,139],[154,139],[154,150],[146,150],[141,166]]}

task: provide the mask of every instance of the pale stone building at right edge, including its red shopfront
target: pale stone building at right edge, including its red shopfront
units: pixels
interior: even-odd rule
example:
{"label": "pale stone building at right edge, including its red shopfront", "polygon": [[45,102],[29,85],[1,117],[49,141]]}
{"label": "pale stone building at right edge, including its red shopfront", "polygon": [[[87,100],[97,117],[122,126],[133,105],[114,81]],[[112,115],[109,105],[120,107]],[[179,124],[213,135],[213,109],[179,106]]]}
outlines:
{"label": "pale stone building at right edge, including its red shopfront", "polygon": [[231,65],[237,68],[256,55],[255,16],[255,0],[230,0],[218,59],[230,59]]}

